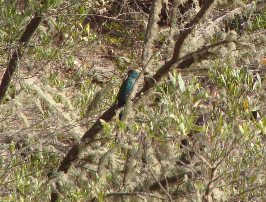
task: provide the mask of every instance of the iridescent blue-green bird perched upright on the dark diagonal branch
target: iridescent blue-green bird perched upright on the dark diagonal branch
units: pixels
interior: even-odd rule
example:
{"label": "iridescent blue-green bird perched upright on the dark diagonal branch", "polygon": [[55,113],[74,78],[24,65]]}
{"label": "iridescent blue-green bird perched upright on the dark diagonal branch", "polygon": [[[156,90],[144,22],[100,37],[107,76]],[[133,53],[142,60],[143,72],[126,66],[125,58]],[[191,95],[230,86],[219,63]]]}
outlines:
{"label": "iridescent blue-green bird perched upright on the dark diagonal branch", "polygon": [[127,79],[123,81],[117,94],[118,107],[123,107],[126,104],[127,97],[137,77],[138,77],[138,73],[135,70],[128,71]]}

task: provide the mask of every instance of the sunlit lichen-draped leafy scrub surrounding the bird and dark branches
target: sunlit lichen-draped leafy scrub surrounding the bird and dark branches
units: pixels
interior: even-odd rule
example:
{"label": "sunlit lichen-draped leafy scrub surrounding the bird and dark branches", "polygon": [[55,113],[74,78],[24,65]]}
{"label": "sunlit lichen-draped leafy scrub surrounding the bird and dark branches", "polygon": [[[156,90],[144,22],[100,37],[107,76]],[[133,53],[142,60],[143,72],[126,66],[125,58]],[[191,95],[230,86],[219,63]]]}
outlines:
{"label": "sunlit lichen-draped leafy scrub surrounding the bird and dark branches", "polygon": [[[115,101],[121,74],[137,69],[143,86],[142,70],[147,83],[171,59],[175,41],[200,10],[200,1],[187,2],[155,9],[147,65],[140,55],[148,2],[0,2],[2,75],[28,22],[43,15],[0,106],[0,201],[49,201],[55,190],[66,201],[266,201],[266,13],[259,1],[224,10],[214,3],[179,57],[233,42],[194,52],[186,70],[172,67],[132,103],[125,120],[99,120],[103,129],[81,145],[70,171],[57,172]],[[98,80],[99,67],[110,66]],[[94,96],[97,109],[84,118]]]}

